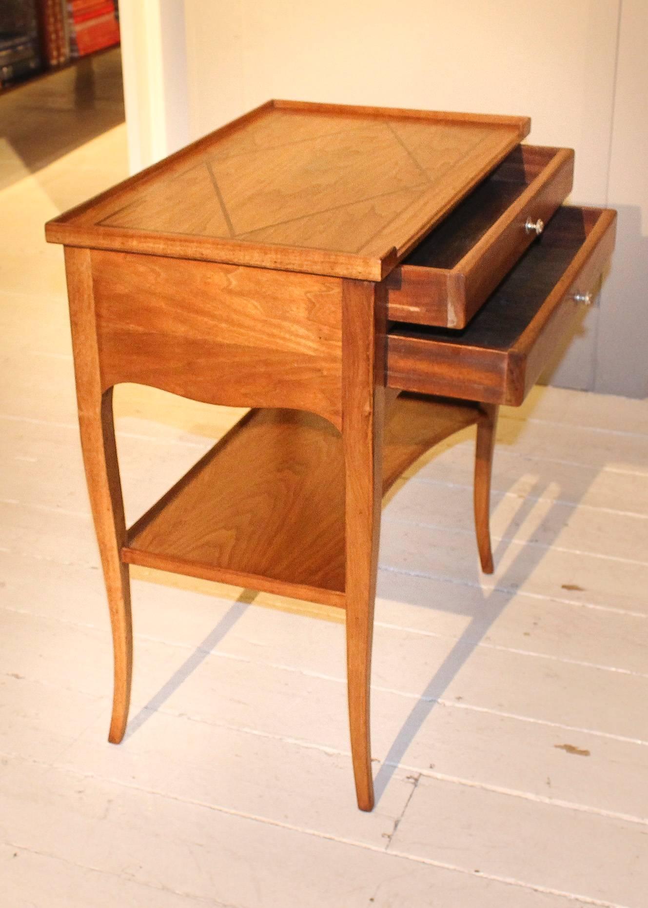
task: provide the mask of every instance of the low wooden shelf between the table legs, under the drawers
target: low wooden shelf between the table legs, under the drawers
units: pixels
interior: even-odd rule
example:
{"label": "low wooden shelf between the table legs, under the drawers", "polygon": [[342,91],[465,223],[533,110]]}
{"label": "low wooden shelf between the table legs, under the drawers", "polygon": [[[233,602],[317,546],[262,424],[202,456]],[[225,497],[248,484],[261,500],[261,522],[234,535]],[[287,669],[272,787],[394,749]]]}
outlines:
{"label": "low wooden shelf between the table legs, under the drawers", "polygon": [[[476,404],[402,395],[388,410],[383,493]],[[128,532],[123,561],[344,607],[339,431],[301,410],[250,410]]]}

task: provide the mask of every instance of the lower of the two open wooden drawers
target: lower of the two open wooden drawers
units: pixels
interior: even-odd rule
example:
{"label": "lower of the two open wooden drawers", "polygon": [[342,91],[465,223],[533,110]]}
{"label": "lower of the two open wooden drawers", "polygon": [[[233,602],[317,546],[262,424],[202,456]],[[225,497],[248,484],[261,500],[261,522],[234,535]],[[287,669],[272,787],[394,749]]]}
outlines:
{"label": "lower of the two open wooden drawers", "polygon": [[388,385],[517,406],[614,249],[616,212],[565,206],[463,331],[394,324]]}

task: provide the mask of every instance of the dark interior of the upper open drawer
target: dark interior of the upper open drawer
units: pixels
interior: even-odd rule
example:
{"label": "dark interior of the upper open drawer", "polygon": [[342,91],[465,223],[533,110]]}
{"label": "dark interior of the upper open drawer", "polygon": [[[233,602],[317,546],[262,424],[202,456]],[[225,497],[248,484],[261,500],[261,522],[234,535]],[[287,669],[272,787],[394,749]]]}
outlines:
{"label": "dark interior of the upper open drawer", "polygon": [[455,268],[560,151],[518,145],[402,264]]}

